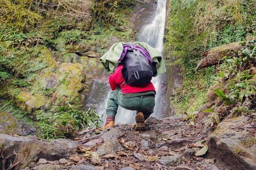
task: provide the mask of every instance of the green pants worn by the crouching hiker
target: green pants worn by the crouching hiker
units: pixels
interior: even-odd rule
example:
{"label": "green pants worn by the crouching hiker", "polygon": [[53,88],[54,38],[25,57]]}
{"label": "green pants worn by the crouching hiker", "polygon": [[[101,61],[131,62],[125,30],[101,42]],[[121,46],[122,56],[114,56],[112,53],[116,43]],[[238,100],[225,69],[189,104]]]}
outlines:
{"label": "green pants worn by the crouching hiker", "polygon": [[117,114],[118,105],[130,111],[143,112],[151,114],[154,112],[155,97],[123,97],[122,90],[117,88],[109,95],[108,106],[106,109],[107,116],[115,116]]}

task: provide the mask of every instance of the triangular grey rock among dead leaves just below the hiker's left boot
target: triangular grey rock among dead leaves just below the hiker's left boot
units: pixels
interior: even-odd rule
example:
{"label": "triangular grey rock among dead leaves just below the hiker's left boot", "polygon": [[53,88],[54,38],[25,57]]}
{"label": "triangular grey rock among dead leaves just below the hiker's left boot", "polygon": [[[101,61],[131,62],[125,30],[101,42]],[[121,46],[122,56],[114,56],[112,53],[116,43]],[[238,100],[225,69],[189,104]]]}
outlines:
{"label": "triangular grey rock among dead leaves just below the hiker's left boot", "polygon": [[104,142],[100,147],[98,147],[97,153],[99,156],[102,156],[106,154],[115,154],[115,152],[123,150],[124,148],[122,147],[121,143],[117,141],[117,139],[110,138],[106,142]]}

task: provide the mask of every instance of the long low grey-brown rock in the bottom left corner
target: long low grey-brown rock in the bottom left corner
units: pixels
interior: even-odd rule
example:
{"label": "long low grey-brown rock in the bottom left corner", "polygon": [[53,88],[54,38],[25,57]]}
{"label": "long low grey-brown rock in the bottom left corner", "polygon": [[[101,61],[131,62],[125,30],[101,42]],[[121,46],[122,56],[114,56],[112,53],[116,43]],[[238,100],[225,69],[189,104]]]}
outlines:
{"label": "long low grey-brown rock in the bottom left corner", "polygon": [[75,154],[74,148],[80,146],[79,143],[69,139],[53,139],[49,143],[5,134],[0,134],[0,145],[5,150],[3,153],[5,158],[13,154],[15,150],[19,155],[20,165],[29,164],[36,157],[41,161],[42,159],[52,161],[61,158],[68,159],[69,156]]}

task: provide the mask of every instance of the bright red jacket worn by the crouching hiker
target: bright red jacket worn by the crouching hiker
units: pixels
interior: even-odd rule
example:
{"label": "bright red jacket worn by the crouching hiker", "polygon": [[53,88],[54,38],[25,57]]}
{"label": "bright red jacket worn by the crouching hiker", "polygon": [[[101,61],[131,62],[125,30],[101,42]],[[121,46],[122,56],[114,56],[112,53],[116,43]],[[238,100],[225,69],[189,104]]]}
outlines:
{"label": "bright red jacket worn by the crouching hiker", "polygon": [[[125,79],[122,75],[122,69],[123,66],[118,66],[117,69],[115,69],[114,74],[110,74],[109,76],[109,84],[112,90],[115,90],[115,88],[121,88],[122,92],[124,94],[129,93],[137,93],[137,92],[144,92],[144,91],[155,91],[154,85],[150,82],[147,86],[143,87],[131,87],[128,84],[125,84]],[[123,84],[122,84],[123,83]]]}

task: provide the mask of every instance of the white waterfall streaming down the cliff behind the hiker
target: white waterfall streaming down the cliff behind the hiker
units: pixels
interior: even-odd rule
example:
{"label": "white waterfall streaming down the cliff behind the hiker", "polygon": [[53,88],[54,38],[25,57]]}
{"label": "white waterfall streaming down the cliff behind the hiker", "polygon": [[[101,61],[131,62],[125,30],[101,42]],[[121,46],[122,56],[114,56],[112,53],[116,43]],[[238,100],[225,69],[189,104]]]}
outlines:
{"label": "white waterfall streaming down the cliff behind the hiker", "polygon": [[[148,45],[157,49],[159,52],[163,51],[164,23],[166,21],[166,1],[167,0],[158,1],[155,14],[153,14],[154,19],[150,24],[144,25],[144,27],[142,27],[137,40],[140,42],[146,42]],[[163,102],[163,96],[160,97],[162,95],[160,76],[156,76],[155,78],[153,78],[152,83],[154,84],[156,89],[156,105],[154,108],[154,113],[152,113],[151,116],[161,118],[162,114],[159,114],[159,112],[161,110],[160,106]],[[104,124],[106,121],[105,109],[107,100],[108,99],[99,104],[96,109],[96,113],[102,118]],[[117,115],[115,116],[115,124],[135,123],[135,116],[136,111],[128,111],[126,109],[118,107]]]}

